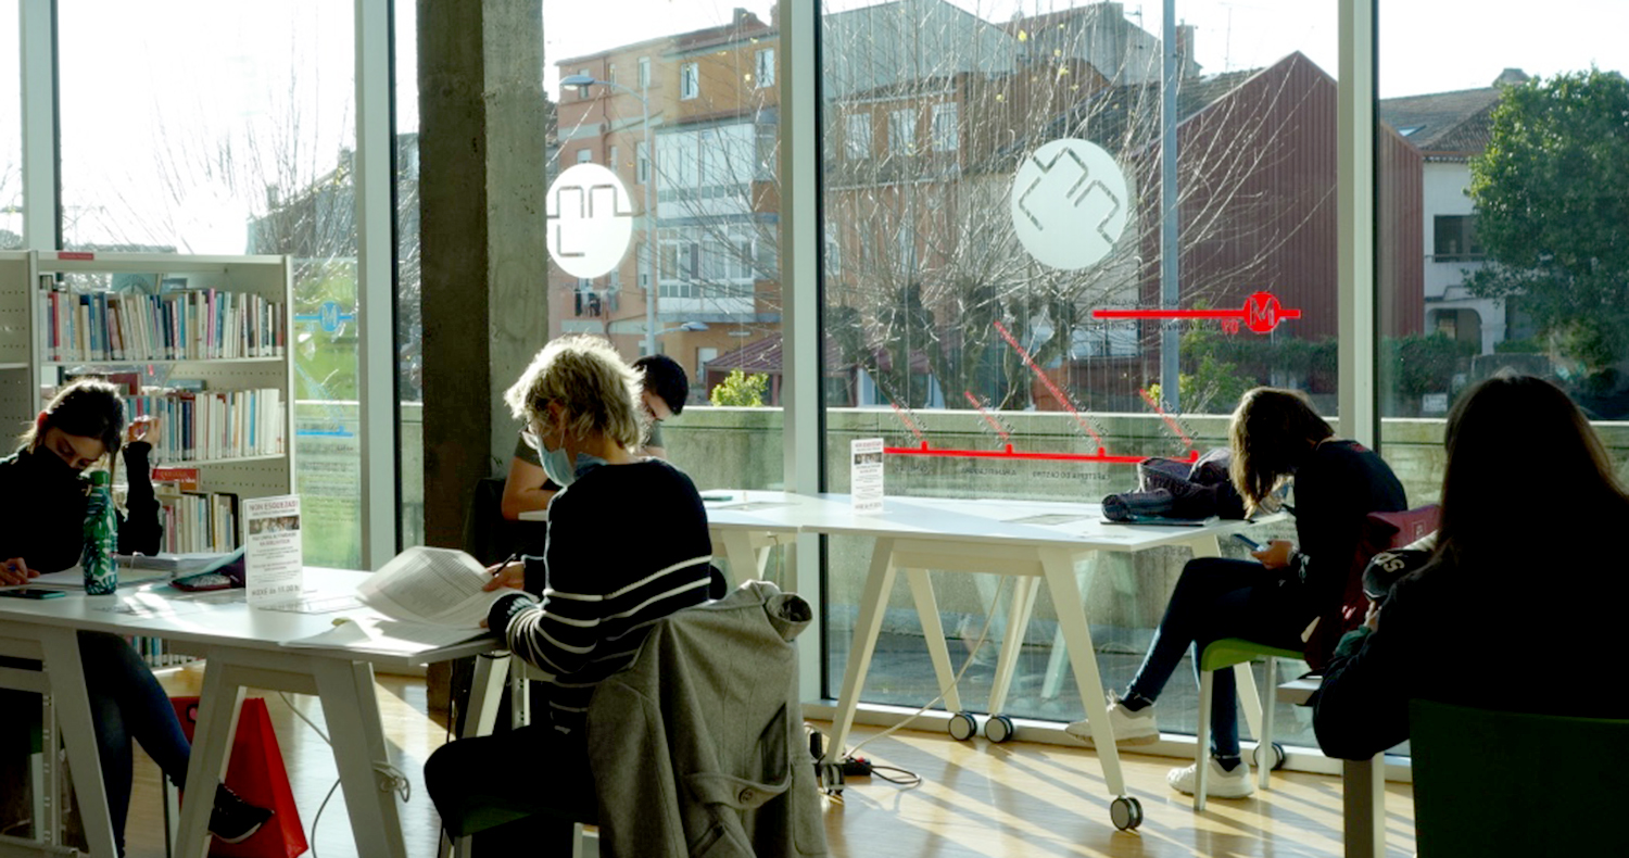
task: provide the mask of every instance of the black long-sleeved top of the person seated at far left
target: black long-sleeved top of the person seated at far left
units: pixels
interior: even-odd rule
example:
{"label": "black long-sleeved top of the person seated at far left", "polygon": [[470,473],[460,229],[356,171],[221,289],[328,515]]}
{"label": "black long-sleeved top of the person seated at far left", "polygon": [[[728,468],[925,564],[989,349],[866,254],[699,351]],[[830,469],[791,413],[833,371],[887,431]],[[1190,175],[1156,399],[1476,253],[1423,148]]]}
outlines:
{"label": "black long-sleeved top of the person seated at far left", "polygon": [[[125,513],[119,516],[119,554],[158,554],[163,526],[148,464],[151,446],[124,448],[130,482]],[[18,449],[0,459],[0,560],[21,557],[28,568],[62,571],[80,562],[85,549],[85,493],[90,480],[72,475],[47,453]]]}

